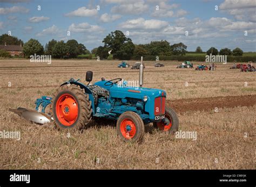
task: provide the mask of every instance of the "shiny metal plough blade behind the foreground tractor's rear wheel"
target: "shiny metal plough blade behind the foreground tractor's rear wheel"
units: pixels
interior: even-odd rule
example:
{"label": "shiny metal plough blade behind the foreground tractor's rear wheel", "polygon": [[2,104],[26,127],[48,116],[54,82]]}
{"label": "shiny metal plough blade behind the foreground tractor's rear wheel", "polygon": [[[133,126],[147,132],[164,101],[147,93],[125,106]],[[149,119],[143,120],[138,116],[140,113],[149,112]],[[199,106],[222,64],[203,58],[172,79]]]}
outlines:
{"label": "shiny metal plough blade behind the foreground tractor's rear wheel", "polygon": [[38,124],[45,124],[51,121],[51,117],[47,116],[45,113],[37,112],[35,110],[18,107],[18,109],[9,109],[9,111],[18,114],[20,117],[23,117],[26,120],[33,121]]}

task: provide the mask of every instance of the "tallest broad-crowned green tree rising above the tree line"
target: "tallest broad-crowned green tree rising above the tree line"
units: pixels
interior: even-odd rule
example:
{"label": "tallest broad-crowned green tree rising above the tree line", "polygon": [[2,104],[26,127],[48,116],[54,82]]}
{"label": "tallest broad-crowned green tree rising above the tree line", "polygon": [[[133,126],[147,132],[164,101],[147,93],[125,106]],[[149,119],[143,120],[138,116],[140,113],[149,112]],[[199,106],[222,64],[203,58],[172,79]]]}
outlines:
{"label": "tallest broad-crowned green tree rising above the tree line", "polygon": [[[122,31],[114,31],[108,34],[103,41],[104,47],[111,49],[111,54],[113,54],[113,59],[123,59],[122,54],[129,57],[133,54],[134,45],[130,38],[126,38]],[[127,46],[132,47],[129,49]],[[132,51],[132,52],[131,52]],[[128,55],[128,56],[127,56]]]}

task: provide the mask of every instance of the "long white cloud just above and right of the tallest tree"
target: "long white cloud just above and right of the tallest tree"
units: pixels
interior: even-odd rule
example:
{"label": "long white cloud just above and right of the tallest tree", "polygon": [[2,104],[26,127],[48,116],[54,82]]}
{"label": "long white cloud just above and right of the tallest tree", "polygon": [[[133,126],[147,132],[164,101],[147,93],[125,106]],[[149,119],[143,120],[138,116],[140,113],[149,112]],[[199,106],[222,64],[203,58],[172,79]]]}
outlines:
{"label": "long white cloud just above and right of the tallest tree", "polygon": [[125,29],[142,29],[142,30],[158,30],[169,25],[167,21],[158,19],[145,20],[144,18],[127,20],[125,23],[120,24],[121,28]]}

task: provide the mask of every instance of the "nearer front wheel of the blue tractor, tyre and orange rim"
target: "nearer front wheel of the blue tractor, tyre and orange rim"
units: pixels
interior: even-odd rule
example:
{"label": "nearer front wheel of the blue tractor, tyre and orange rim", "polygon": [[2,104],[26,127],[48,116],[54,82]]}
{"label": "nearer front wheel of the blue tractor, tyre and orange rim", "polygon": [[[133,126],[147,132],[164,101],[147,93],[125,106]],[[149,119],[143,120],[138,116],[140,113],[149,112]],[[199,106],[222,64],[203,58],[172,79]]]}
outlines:
{"label": "nearer front wheel of the blue tractor, tyre and orange rim", "polygon": [[143,139],[144,132],[143,120],[135,112],[124,112],[117,119],[117,134],[124,141],[139,142]]}

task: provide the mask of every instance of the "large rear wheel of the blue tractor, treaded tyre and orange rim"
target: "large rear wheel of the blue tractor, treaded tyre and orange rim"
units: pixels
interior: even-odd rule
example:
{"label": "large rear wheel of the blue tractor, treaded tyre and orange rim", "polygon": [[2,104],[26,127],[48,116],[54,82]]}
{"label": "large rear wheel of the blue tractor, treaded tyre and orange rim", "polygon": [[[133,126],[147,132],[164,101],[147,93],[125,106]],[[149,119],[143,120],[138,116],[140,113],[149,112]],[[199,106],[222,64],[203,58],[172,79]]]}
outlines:
{"label": "large rear wheel of the blue tractor, treaded tyre and orange rim", "polygon": [[59,130],[81,130],[92,118],[89,95],[76,85],[66,84],[57,89],[52,111],[55,127]]}

